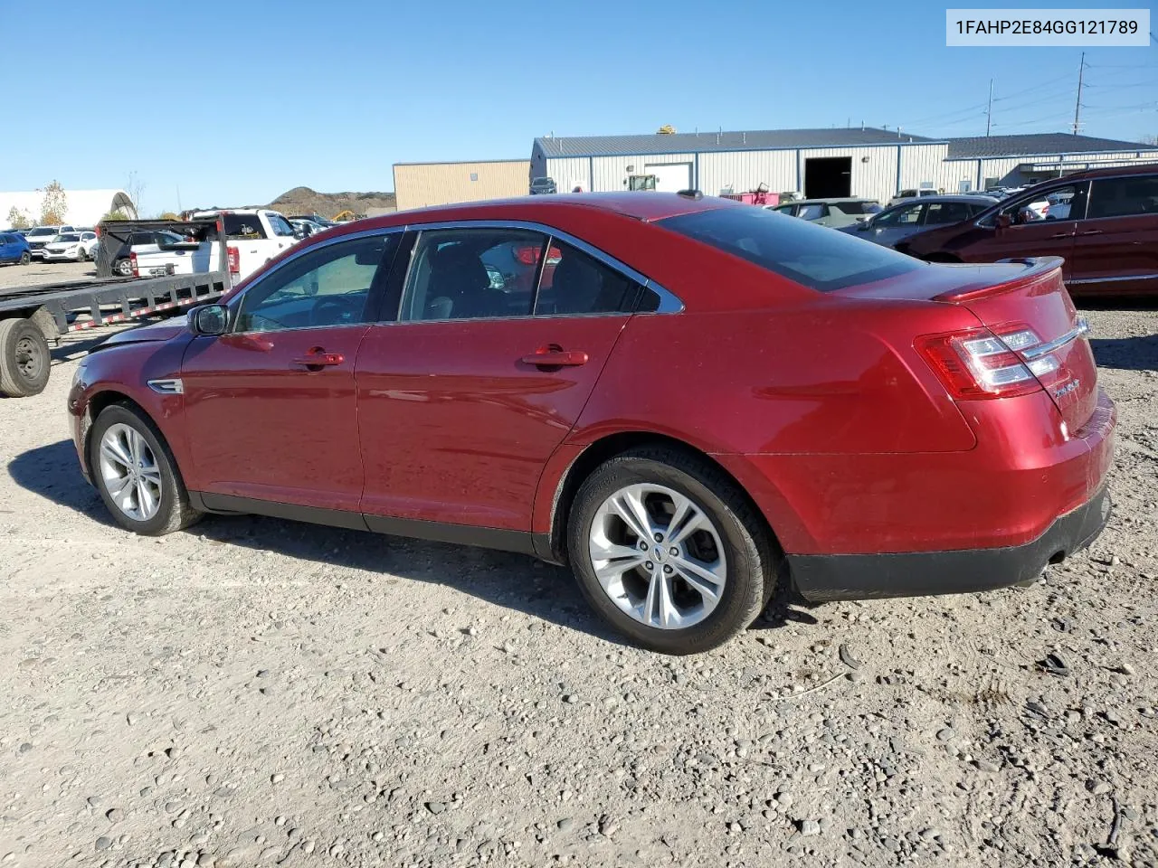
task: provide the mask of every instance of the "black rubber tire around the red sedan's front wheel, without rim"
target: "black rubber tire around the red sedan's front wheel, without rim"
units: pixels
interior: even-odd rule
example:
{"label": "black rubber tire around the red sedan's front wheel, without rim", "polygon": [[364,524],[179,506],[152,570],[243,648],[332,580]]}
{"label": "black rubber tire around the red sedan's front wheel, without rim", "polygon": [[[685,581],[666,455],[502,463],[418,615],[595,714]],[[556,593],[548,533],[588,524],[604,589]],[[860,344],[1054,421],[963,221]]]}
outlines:
{"label": "black rubber tire around the red sedan's front wheel, without rim", "polygon": [[[101,472],[100,448],[101,439],[113,425],[126,425],[140,434],[156,458],[156,466],[161,475],[161,499],[156,514],[147,521],[137,521],[127,515],[113,502],[109,494],[104,476]],[[198,522],[204,513],[195,509],[189,503],[189,492],[185,483],[181,478],[177,462],[169,450],[169,444],[164,436],[157,431],[153,420],[137,407],[129,404],[110,404],[101,411],[93,424],[93,429],[88,436],[88,465],[93,473],[93,481],[101,493],[101,500],[105,508],[112,514],[117,523],[142,536],[160,537],[166,534],[182,530]]]}

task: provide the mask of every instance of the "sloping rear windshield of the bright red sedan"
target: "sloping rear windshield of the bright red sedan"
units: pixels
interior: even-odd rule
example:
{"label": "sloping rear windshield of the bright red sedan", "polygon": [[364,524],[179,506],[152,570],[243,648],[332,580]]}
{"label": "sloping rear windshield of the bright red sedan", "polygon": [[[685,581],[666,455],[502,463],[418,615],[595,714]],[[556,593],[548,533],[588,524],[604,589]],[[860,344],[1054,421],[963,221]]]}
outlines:
{"label": "sloping rear windshield of the bright red sedan", "polygon": [[699,211],[659,220],[657,226],[821,293],[922,267],[895,250],[763,208]]}

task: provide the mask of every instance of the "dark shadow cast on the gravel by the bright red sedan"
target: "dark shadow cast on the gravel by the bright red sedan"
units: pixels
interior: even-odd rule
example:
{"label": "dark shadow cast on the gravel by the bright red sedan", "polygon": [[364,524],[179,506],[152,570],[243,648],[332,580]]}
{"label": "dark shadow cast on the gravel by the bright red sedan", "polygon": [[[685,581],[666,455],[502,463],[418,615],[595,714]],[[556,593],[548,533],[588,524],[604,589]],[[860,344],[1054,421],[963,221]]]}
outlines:
{"label": "dark shadow cast on the gravel by the bright red sedan", "polygon": [[[81,513],[111,531],[125,532],[112,521],[96,490],[81,477],[71,441],[20,454],[8,463],[8,472],[22,488]],[[628,643],[592,612],[569,569],[527,556],[257,515],[208,515],[185,532],[213,545],[244,546],[383,578],[453,587],[614,645]],[[811,606],[789,583],[782,582],[752,628],[816,624],[804,611],[807,608]]]}

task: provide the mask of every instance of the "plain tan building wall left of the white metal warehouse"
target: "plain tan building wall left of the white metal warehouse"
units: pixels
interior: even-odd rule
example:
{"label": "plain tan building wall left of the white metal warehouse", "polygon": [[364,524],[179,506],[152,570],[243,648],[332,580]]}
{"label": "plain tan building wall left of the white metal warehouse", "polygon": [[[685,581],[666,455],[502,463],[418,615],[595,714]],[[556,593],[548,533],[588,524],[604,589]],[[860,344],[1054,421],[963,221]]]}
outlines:
{"label": "plain tan building wall left of the white metal warehouse", "polygon": [[394,164],[394,192],[398,211],[526,196],[529,189],[529,160]]}

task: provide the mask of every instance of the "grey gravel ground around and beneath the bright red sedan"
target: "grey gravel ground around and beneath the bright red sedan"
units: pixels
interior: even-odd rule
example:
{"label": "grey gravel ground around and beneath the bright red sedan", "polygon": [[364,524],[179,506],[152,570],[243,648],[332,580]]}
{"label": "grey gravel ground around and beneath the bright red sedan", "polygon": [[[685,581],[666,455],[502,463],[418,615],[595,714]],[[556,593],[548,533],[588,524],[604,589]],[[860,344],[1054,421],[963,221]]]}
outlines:
{"label": "grey gravel ground around and beneath the bright red sedan", "polygon": [[1090,318],[1121,421],[1089,554],[782,596],[683,659],[516,556],[116,529],[65,434],[71,345],[0,399],[0,865],[1155,865],[1158,312]]}

